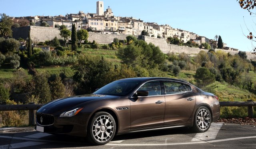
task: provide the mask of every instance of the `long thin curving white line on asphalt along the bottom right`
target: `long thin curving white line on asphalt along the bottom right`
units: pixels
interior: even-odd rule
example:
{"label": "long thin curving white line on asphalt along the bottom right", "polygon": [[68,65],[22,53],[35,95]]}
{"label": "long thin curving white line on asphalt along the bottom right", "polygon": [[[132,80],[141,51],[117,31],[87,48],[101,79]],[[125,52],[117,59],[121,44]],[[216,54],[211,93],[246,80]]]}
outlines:
{"label": "long thin curving white line on asphalt along the bottom right", "polygon": [[211,140],[211,141],[183,142],[183,143],[161,143],[161,144],[113,144],[113,143],[108,143],[106,145],[108,145],[108,146],[168,146],[168,145],[186,145],[186,144],[191,145],[191,144],[214,143],[214,142],[239,140],[239,139],[252,139],[252,138],[256,138],[256,136],[237,137],[237,138],[219,139],[219,140]]}

